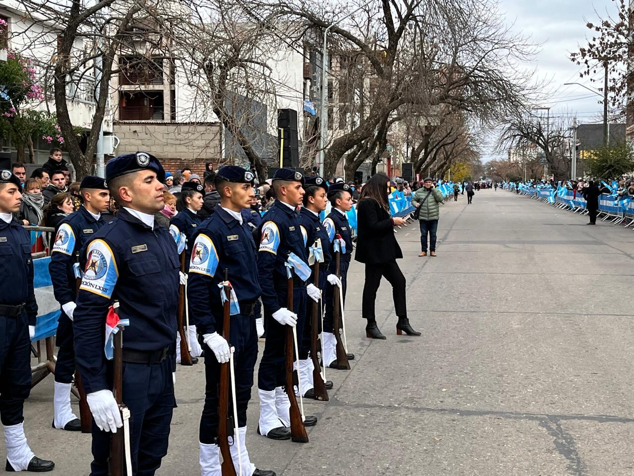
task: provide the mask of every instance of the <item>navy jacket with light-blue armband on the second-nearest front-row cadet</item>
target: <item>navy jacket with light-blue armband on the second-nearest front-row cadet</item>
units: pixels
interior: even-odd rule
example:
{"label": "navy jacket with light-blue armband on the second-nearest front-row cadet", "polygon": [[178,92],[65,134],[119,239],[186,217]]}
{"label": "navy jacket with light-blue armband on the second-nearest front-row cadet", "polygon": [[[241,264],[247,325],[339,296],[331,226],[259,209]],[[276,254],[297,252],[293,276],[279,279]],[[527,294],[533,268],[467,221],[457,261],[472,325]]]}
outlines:
{"label": "navy jacket with light-blue armband on the second-nearest front-row cadet", "polygon": [[[238,303],[254,303],[260,297],[256,268],[256,244],[244,221],[242,225],[217,205],[198,229],[191,253],[187,296],[190,315],[196,317],[201,334],[221,332],[223,303],[218,284],[229,270],[229,281]],[[229,296],[227,296],[229,297]]]}

